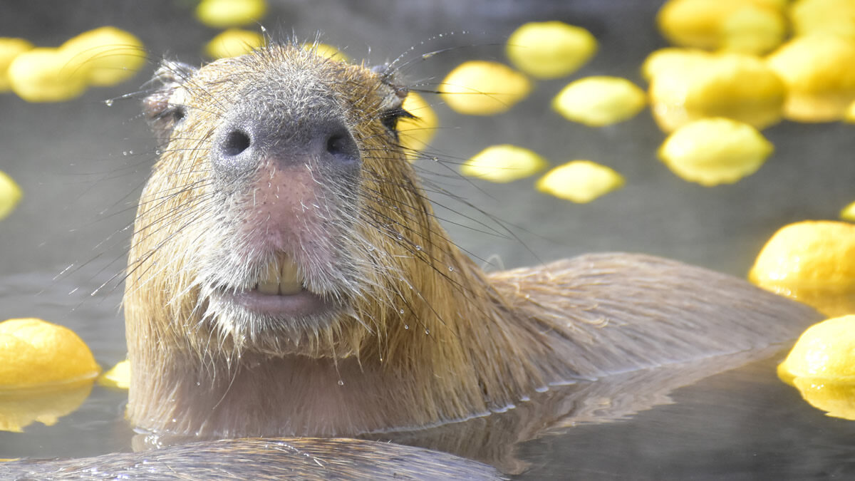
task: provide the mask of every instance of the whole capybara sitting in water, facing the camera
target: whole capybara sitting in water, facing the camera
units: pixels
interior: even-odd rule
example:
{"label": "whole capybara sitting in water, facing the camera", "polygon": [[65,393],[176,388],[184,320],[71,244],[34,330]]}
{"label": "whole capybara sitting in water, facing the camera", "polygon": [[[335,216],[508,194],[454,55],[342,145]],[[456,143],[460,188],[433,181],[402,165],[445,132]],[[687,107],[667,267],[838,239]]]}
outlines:
{"label": "whole capybara sitting in water, facing the camera", "polygon": [[433,215],[408,89],[294,45],[165,62],[145,115],[127,416],[191,436],[355,436],[502,410],[554,383],[792,339],[816,313],[644,255],[482,272]]}

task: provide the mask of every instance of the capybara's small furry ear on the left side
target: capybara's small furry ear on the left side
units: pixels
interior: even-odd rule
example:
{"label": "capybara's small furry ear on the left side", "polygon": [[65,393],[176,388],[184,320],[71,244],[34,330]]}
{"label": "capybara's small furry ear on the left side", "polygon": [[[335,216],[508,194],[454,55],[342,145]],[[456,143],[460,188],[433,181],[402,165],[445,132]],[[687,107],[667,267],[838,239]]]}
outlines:
{"label": "capybara's small furry ear on the left side", "polygon": [[166,144],[175,125],[186,115],[183,104],[175,103],[175,89],[190,80],[198,68],[165,60],[150,80],[152,90],[143,101],[143,114],[162,144]]}

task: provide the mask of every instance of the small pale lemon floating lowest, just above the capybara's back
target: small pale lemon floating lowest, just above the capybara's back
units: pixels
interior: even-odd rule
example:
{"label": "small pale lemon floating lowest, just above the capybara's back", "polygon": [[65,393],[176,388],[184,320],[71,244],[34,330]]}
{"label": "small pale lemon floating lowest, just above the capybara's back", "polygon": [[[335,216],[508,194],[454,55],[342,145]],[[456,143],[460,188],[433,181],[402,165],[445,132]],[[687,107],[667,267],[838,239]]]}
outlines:
{"label": "small pale lemon floating lowest, just above the capybara's back", "polygon": [[623,184],[623,177],[613,169],[589,160],[574,160],[547,172],[537,182],[537,189],[561,199],[585,204]]}

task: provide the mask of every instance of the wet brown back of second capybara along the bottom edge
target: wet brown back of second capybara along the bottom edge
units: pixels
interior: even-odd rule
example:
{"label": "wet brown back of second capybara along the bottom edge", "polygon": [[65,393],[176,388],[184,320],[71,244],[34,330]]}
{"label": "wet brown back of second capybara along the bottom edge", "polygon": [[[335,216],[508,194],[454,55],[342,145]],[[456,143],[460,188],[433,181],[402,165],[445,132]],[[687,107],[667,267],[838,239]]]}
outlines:
{"label": "wet brown back of second capybara along the bottom edge", "polygon": [[[231,460],[232,462],[223,462]],[[154,453],[0,462],[3,479],[501,479],[451,454],[355,439],[193,442]]]}

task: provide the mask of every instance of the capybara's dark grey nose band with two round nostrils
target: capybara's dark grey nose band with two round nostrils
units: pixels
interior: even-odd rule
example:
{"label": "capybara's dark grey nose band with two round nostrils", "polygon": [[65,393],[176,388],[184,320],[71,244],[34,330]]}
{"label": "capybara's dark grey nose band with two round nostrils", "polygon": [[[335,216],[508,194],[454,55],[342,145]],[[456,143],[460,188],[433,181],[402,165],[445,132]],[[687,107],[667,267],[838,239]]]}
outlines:
{"label": "capybara's dark grey nose band with two round nostrils", "polygon": [[227,122],[215,134],[210,158],[224,177],[251,173],[264,161],[345,170],[360,163],[357,141],[338,119]]}

